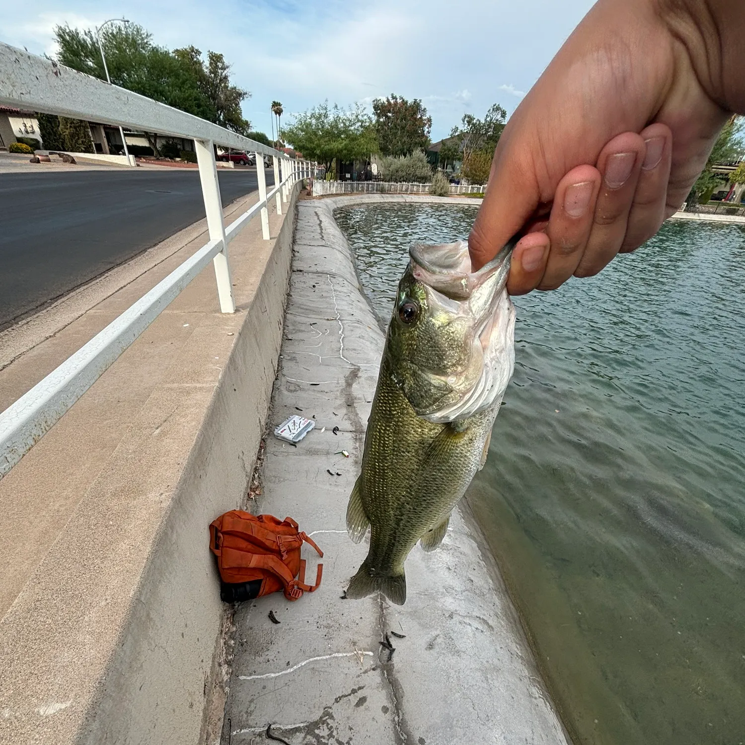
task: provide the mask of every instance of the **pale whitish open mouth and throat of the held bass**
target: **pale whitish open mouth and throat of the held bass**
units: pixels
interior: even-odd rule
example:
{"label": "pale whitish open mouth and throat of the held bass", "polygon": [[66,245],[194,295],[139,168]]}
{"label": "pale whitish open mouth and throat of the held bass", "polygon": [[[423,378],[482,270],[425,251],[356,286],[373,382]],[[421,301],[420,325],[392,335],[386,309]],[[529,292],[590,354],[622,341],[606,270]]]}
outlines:
{"label": "pale whitish open mouth and throat of the held bass", "polygon": [[[515,367],[515,307],[507,294],[513,238],[478,271],[466,241],[451,244],[414,244],[409,250],[410,272],[427,291],[428,305],[443,314],[466,314],[472,326],[467,370],[450,375],[429,373],[437,387],[451,390],[428,408],[414,406],[429,422],[466,419],[498,406]],[[456,310],[457,308],[457,310]]]}

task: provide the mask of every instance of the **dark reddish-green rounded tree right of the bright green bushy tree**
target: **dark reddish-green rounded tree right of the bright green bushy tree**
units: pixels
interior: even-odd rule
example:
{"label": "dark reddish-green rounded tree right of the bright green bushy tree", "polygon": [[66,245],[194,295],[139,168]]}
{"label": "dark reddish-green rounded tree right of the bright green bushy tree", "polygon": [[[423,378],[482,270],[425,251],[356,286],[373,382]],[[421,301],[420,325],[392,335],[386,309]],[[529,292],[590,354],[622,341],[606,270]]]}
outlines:
{"label": "dark reddish-green rounded tree right of the bright green bushy tree", "polygon": [[373,112],[378,142],[384,155],[410,155],[415,150],[429,147],[432,118],[427,115],[419,98],[407,101],[392,93],[388,98],[376,98]]}

